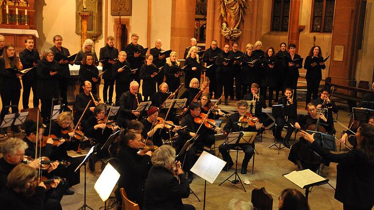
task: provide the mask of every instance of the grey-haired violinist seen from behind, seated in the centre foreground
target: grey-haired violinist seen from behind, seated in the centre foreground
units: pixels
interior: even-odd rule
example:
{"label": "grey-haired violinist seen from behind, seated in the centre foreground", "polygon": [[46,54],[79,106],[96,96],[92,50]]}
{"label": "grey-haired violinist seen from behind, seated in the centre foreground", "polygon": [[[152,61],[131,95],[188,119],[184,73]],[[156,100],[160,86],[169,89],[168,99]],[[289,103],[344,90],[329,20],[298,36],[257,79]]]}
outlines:
{"label": "grey-haired violinist seen from behind, seated in the centre foreground", "polygon": [[144,206],[149,210],[195,210],[192,205],[182,203],[182,198],[189,196],[189,184],[181,163],[175,162],[175,150],[163,145],[155,150],[151,160]]}

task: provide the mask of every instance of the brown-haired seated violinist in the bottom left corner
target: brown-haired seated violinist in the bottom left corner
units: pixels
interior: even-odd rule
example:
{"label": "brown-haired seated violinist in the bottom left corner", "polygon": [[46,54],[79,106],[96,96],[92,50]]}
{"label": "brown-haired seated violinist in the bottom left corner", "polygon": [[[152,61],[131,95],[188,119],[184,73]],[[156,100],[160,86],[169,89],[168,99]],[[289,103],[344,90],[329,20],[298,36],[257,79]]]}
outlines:
{"label": "brown-haired seated violinist in the bottom left corner", "polygon": [[[5,210],[62,210],[61,204],[51,199],[45,200],[46,186],[43,182],[37,183],[35,168],[18,164],[9,173],[6,187],[1,192],[0,205]],[[36,185],[36,186],[35,186]],[[58,185],[53,182],[52,187]],[[31,190],[36,187],[35,191]]]}

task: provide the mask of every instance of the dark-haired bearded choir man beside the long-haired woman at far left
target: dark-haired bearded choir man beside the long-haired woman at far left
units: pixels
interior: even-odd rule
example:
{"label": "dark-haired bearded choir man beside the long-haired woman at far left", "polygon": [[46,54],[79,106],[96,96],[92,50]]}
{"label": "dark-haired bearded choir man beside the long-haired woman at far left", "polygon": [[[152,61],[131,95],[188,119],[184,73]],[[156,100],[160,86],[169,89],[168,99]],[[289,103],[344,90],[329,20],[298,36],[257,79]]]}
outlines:
{"label": "dark-haired bearded choir man beside the long-haired woman at far left", "polygon": [[[40,60],[39,53],[34,49],[34,39],[28,38],[25,40],[26,48],[19,53],[19,60],[22,63],[23,69],[33,68]],[[29,108],[30,90],[33,88],[33,107],[39,106],[39,98],[37,97],[37,70],[36,68],[29,70],[22,76],[22,105],[23,108]]]}

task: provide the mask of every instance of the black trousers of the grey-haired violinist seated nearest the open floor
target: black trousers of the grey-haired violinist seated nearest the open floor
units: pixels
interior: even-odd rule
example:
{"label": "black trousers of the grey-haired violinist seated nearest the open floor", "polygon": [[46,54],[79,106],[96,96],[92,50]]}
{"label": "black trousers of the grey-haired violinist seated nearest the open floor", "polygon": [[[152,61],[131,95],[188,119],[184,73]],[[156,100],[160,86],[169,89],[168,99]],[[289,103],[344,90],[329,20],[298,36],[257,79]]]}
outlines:
{"label": "black trousers of the grey-haired violinist seated nearest the open floor", "polygon": [[[222,158],[224,161],[230,163],[232,162],[231,156],[228,154],[228,150],[236,148],[236,144],[221,144],[218,149],[220,150],[220,153],[222,154]],[[249,144],[249,143],[240,143],[239,147],[243,149],[244,152],[244,158],[243,158],[243,164],[248,164],[248,161],[252,158],[254,152],[255,152],[255,144]]]}

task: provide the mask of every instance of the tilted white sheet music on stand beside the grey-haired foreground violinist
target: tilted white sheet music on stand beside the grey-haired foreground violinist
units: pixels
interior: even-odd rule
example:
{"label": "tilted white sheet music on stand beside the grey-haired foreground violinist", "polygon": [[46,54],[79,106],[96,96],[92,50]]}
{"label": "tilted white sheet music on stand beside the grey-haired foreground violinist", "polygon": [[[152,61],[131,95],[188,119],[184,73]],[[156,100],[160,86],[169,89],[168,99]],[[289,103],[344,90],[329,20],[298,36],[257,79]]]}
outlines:
{"label": "tilted white sheet music on stand beside the grey-haired foreground violinist", "polygon": [[191,172],[213,184],[225,164],[224,160],[203,151],[195,165],[192,166]]}

